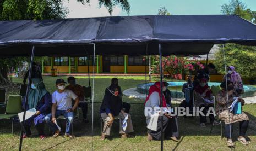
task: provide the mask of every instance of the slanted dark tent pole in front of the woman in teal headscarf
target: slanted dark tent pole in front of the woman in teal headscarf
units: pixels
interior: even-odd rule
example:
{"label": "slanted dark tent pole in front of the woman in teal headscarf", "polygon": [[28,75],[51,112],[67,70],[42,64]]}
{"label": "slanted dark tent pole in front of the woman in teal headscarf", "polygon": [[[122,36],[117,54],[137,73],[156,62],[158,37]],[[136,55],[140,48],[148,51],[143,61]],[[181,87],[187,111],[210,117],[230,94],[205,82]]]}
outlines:
{"label": "slanted dark tent pole in front of the woman in teal headscarf", "polygon": [[28,79],[28,85],[26,87],[23,122],[22,122],[21,133],[20,133],[20,146],[19,146],[19,150],[20,151],[21,151],[21,148],[22,148],[22,141],[23,141],[22,137],[23,137],[24,124],[25,124],[26,106],[27,106],[27,102],[28,102],[28,91],[29,91],[29,85],[30,85],[30,80],[31,80],[31,73],[32,73],[33,60],[34,60],[34,53],[35,53],[35,46],[33,45],[32,53],[31,53],[31,59],[30,59],[30,67],[29,67],[29,79]]}

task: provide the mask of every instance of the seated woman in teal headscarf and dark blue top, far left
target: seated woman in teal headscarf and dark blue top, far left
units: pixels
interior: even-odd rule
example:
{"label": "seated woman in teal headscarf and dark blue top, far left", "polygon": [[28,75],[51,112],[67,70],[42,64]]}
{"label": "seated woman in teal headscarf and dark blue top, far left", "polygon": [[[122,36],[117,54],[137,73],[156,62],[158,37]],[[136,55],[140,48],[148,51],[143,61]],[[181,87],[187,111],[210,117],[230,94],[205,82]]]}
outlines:
{"label": "seated woman in teal headscarf and dark blue top, far left", "polygon": [[[44,118],[45,115],[51,112],[51,94],[45,89],[42,79],[31,79],[31,89],[28,96],[28,104],[26,110],[35,108],[36,115],[25,120],[23,138],[31,136],[31,124],[34,121],[36,130],[41,140],[45,139]],[[25,98],[23,99],[23,107],[25,107]]]}

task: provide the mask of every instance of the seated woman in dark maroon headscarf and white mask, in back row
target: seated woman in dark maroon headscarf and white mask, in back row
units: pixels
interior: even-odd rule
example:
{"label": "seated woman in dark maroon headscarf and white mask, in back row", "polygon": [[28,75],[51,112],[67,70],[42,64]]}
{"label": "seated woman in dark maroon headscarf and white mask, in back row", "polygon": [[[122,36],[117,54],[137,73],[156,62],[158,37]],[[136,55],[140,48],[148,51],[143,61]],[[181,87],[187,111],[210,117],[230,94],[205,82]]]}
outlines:
{"label": "seated woman in dark maroon headscarf and white mask, in back row", "polygon": [[[207,102],[206,100],[208,100],[209,102]],[[214,106],[213,92],[208,86],[206,79],[200,79],[199,85],[195,88],[195,106],[199,107],[199,109],[204,107],[203,113],[205,116],[201,114],[199,116],[200,116],[200,126],[206,127],[205,126],[205,123],[207,121],[206,114],[209,108]],[[210,118],[210,123],[213,123],[214,115],[210,114],[209,118]]]}

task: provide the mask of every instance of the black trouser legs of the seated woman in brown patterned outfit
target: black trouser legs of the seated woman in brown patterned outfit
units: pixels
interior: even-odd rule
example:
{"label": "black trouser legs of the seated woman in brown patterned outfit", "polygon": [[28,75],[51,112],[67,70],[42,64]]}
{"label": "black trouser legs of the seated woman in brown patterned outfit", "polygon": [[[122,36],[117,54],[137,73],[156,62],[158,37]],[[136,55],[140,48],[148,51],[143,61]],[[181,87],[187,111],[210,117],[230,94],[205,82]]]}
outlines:
{"label": "black trouser legs of the seated woman in brown patterned outfit", "polygon": [[[239,127],[240,128],[239,129],[239,136],[243,136],[244,137],[246,135],[246,131],[248,129],[248,125],[249,125],[249,120],[239,121],[239,126],[240,126]],[[233,129],[234,129],[234,123],[225,124],[225,134],[226,134],[226,137],[228,139],[232,137]]]}

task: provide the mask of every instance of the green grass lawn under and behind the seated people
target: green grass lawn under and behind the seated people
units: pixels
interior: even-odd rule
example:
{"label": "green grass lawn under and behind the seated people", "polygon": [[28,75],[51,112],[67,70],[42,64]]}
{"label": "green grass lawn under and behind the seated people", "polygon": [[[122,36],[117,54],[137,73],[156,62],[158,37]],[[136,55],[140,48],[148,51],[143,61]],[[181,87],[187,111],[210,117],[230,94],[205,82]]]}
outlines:
{"label": "green grass lawn under and behind the seated people", "polygon": [[[67,79],[67,77],[61,77]],[[87,77],[79,78],[77,83],[80,85],[88,85]],[[94,103],[94,137],[93,147],[95,150],[160,150],[160,141],[146,140],[146,121],[143,115],[144,101],[133,98],[123,97],[123,101],[132,104],[130,114],[132,115],[133,127],[136,133],[135,138],[119,138],[119,123],[115,122],[112,127],[111,137],[100,140],[100,115],[99,107],[105,88],[110,84],[113,77],[95,77],[95,102]],[[145,83],[145,77],[117,77],[122,90],[133,88],[137,84]],[[57,77],[43,77],[48,91],[53,92],[55,88],[55,80]],[[21,83],[22,79],[13,78],[14,82]],[[156,79],[155,79],[156,80]],[[92,85],[92,79],[91,79]],[[18,94],[18,90],[12,89],[9,94]],[[249,129],[247,131],[248,139],[251,141],[249,146],[243,146],[236,141],[236,150],[256,150],[256,104],[247,104],[243,107],[243,111],[247,112],[250,118]],[[91,150],[91,110],[92,104],[89,104],[88,117],[89,123],[81,123],[75,121],[74,135],[76,138],[69,139],[66,137],[52,138],[48,136],[46,140],[41,141],[37,137],[36,130],[33,128],[33,136],[23,140],[23,150]],[[210,132],[210,125],[206,128],[199,127],[199,121],[195,118],[178,118],[179,132],[181,139],[179,142],[170,140],[164,141],[164,150],[227,150],[226,139],[220,138],[220,125],[214,127],[213,133]],[[0,150],[17,150],[19,148],[20,125],[14,125],[14,134],[10,128],[9,121],[0,121]],[[45,127],[48,134],[48,127]],[[233,140],[236,140],[239,132],[238,124],[235,124],[233,132]]]}

